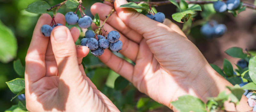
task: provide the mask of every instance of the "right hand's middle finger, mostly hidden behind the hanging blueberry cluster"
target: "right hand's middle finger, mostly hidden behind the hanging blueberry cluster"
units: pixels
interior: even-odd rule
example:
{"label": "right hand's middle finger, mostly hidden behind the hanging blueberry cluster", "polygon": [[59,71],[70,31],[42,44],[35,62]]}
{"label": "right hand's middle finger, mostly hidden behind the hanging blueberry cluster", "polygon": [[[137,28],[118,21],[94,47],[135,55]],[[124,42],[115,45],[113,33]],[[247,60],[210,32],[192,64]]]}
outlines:
{"label": "right hand's middle finger, mostly hidden behind the hanging blueberry cluster", "polygon": [[[100,20],[100,23],[102,23],[103,21]],[[95,24],[92,24],[92,29],[96,29],[97,26]],[[113,31],[115,30],[114,28],[112,28],[110,25],[108,25],[108,23],[104,24],[104,28],[107,31]],[[115,30],[116,31],[116,30]],[[105,32],[104,32],[105,33]],[[125,57],[131,59],[133,62],[136,61],[136,57],[139,51],[139,44],[129,40],[128,38],[126,38],[123,34],[120,34],[120,41],[122,41],[123,46],[122,46],[122,50],[118,51],[121,54],[123,54]]]}

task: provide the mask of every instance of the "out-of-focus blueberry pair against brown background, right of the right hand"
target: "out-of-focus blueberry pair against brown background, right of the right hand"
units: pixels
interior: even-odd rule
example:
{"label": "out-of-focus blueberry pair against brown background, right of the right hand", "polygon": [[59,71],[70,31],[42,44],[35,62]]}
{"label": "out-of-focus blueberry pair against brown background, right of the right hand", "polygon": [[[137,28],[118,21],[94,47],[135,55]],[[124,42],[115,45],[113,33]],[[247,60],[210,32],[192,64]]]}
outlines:
{"label": "out-of-focus blueberry pair against brown background, right of the right hand", "polygon": [[204,24],[200,29],[201,34],[207,37],[207,39],[222,36],[226,31],[226,25],[218,24],[218,22],[215,20],[210,20],[208,23]]}

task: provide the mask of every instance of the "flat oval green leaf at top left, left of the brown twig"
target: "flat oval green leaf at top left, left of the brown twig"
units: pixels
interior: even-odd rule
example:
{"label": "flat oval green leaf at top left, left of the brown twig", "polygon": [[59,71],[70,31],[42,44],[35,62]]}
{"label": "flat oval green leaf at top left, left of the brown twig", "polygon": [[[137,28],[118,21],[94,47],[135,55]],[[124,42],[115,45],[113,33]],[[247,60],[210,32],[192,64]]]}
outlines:
{"label": "flat oval green leaf at top left, left of the brown twig", "polygon": [[42,14],[46,13],[47,9],[50,8],[50,5],[47,4],[45,1],[36,1],[32,4],[28,5],[28,8],[25,9],[25,11],[31,12],[31,13],[36,13],[36,14]]}

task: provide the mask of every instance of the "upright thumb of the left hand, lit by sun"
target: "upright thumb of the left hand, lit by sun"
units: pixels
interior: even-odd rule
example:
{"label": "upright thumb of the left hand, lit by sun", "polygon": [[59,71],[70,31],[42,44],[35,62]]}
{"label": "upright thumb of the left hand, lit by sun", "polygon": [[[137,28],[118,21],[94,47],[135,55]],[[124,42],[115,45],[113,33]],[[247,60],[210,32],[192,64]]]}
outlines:
{"label": "upright thumb of the left hand, lit by sun", "polygon": [[65,26],[54,28],[51,34],[51,43],[60,80],[62,79],[66,84],[77,82],[82,73],[78,67],[76,46],[69,29]]}

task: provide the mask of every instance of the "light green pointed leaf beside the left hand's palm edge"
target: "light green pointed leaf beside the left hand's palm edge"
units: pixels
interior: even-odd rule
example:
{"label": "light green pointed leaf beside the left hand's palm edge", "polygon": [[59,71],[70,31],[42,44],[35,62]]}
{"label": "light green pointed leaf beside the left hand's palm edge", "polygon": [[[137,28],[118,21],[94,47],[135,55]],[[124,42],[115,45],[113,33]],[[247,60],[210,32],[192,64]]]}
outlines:
{"label": "light green pointed leaf beside the left hand's palm edge", "polygon": [[14,94],[18,94],[22,89],[25,88],[25,80],[23,78],[13,79],[6,82],[6,84]]}

